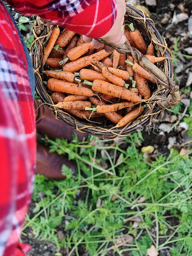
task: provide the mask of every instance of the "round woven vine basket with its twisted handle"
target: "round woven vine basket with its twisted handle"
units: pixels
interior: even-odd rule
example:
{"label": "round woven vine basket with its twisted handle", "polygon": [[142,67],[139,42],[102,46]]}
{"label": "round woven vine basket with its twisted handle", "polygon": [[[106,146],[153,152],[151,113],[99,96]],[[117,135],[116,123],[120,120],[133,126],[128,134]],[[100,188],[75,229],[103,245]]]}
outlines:
{"label": "round woven vine basket with its twisted handle", "polygon": [[[153,20],[151,20],[140,10],[127,4],[125,23],[131,22],[133,22],[135,28],[140,30],[147,44],[150,44],[152,40],[152,43],[155,46],[154,48],[156,56],[167,57],[167,59],[161,61],[157,67],[145,56],[143,56],[137,49],[131,46],[127,44],[110,44],[109,42],[105,41],[105,43],[113,46],[118,52],[127,55],[132,54],[134,60],[149,73],[153,74],[157,80],[157,85],[154,88],[151,88],[151,98],[141,116],[130,124],[127,124],[125,127],[111,129],[115,126],[112,123],[89,123],[88,121],[78,119],[76,116],[72,116],[59,108],[50,107],[49,105],[45,104],[45,106],[50,108],[55,113],[56,118],[61,119],[76,130],[86,132],[100,138],[114,139],[118,136],[126,136],[132,132],[135,132],[138,124],[142,126],[149,124],[151,119],[163,111],[164,108],[172,108],[172,106],[180,102],[181,97],[179,87],[173,82],[171,53],[167,48],[164,38],[161,37],[155,28]],[[50,96],[51,93],[48,92],[46,85],[43,83],[43,79],[45,77],[42,75],[41,61],[43,58],[43,50],[44,47],[46,47],[47,41],[52,32],[52,28],[53,25],[51,23],[45,22],[37,17],[33,27],[34,41],[31,46],[31,59],[35,72],[36,91],[39,94],[41,101],[49,104],[54,103]],[[101,39],[99,40],[102,41]]]}

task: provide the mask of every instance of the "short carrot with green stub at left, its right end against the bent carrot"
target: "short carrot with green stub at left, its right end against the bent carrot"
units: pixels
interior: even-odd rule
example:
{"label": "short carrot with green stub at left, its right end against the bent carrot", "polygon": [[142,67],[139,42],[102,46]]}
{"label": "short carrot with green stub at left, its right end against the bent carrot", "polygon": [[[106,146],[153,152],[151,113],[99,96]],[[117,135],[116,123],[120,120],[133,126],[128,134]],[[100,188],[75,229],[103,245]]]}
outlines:
{"label": "short carrot with green stub at left, its right end against the bent carrot", "polygon": [[102,73],[99,73],[95,70],[90,70],[86,68],[82,68],[79,73],[75,72],[75,76],[80,76],[81,80],[88,80],[88,81],[94,81],[95,79],[108,81],[108,79],[103,76]]}

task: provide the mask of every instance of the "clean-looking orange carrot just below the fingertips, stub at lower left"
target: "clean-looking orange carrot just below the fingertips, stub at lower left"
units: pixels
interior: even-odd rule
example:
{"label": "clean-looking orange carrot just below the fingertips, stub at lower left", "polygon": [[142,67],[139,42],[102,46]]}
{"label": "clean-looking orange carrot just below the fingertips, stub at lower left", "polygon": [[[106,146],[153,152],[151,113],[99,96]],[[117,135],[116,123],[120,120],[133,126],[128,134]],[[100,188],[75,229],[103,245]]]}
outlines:
{"label": "clean-looking orange carrot just below the fingertips, stub at lower left", "polygon": [[69,60],[76,60],[79,57],[81,57],[84,53],[89,52],[94,49],[94,46],[92,45],[92,42],[90,43],[84,43],[76,46],[75,48],[71,49],[67,53],[67,57]]}

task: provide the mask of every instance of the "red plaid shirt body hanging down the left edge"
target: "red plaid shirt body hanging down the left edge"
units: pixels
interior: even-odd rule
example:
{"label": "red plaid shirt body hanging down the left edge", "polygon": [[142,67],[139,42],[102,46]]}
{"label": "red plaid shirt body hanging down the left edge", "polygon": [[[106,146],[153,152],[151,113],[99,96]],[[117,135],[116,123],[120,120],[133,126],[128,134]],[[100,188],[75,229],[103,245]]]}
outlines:
{"label": "red plaid shirt body hanging down the left edge", "polygon": [[18,241],[33,190],[35,115],[25,48],[1,0],[0,31],[0,256],[22,256],[29,249]]}

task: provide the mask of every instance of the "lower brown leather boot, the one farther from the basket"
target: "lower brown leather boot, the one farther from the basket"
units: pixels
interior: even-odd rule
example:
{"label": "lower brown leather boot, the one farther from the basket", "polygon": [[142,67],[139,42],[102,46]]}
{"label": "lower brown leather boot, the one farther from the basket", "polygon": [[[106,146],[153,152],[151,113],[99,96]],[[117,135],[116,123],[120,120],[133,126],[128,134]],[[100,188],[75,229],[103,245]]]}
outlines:
{"label": "lower brown leather boot, the one farther from the basket", "polygon": [[74,174],[77,172],[75,162],[69,161],[67,156],[58,155],[56,152],[50,153],[49,149],[37,142],[35,173],[43,174],[49,179],[65,179],[66,177],[61,173],[63,164],[71,168]]}

